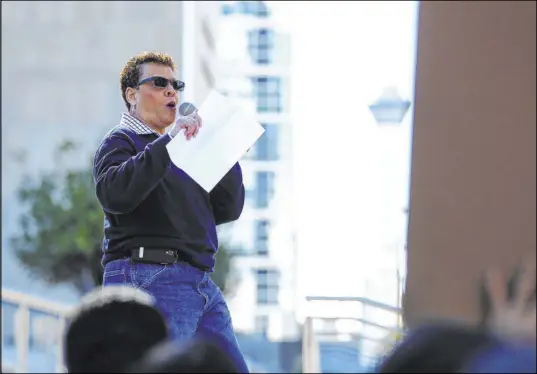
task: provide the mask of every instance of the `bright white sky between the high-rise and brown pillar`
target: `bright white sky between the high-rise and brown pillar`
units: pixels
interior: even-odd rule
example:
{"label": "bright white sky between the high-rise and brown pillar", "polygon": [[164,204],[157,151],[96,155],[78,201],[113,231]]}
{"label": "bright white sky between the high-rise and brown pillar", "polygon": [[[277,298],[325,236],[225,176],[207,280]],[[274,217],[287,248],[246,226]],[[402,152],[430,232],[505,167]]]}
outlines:
{"label": "bright white sky between the high-rise and brown pillar", "polygon": [[359,296],[406,233],[411,111],[381,129],[368,104],[385,86],[412,99],[417,3],[269,5],[292,38],[299,297]]}

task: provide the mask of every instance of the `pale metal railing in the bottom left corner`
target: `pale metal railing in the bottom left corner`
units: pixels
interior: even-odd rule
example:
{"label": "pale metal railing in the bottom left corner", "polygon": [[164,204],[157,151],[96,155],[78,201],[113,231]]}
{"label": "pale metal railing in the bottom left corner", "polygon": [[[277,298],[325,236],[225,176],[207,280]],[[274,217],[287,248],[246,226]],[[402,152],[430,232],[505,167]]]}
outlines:
{"label": "pale metal railing in the bottom left corner", "polygon": [[[5,332],[8,331],[6,325],[6,309],[9,306],[15,307],[13,318],[12,331],[14,336],[14,345],[16,352],[15,367],[5,362]],[[63,334],[68,321],[71,306],[54,303],[51,301],[39,299],[30,295],[13,290],[2,288],[2,326],[1,326],[1,343],[2,343],[2,369],[7,369],[11,372],[28,373],[29,363],[32,357],[30,350],[30,342],[45,341],[45,345],[53,346],[56,350],[55,355],[55,371],[57,373],[65,372],[63,362]],[[40,314],[33,318],[32,324],[31,313]],[[36,327],[40,328],[40,332],[32,331]],[[3,370],[2,370],[3,371]]]}

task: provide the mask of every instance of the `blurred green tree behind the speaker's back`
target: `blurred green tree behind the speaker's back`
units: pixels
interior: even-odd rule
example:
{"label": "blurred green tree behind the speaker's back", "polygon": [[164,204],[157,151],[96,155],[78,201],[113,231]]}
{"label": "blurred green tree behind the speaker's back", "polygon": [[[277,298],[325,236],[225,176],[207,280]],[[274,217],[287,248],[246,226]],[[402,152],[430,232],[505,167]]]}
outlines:
{"label": "blurred green tree behind the speaker's back", "polygon": [[[71,283],[84,294],[102,284],[104,215],[95,197],[91,162],[79,169],[62,167],[75,148],[73,142],[63,142],[56,151],[54,171],[23,179],[17,191],[25,208],[21,232],[11,238],[11,245],[36,277],[50,284]],[[230,267],[223,246],[212,278],[224,292],[231,289]]]}

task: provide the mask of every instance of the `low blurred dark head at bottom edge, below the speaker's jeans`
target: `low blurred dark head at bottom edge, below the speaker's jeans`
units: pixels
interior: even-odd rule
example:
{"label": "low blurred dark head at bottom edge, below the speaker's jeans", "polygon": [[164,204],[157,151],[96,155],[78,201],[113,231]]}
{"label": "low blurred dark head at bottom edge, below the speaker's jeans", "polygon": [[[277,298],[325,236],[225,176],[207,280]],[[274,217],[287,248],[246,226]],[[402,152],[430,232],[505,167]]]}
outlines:
{"label": "low blurred dark head at bottom edge, below the speaker's jeans", "polygon": [[[216,337],[215,337],[216,338]],[[239,373],[218,338],[196,337],[166,342],[151,349],[129,373]]]}

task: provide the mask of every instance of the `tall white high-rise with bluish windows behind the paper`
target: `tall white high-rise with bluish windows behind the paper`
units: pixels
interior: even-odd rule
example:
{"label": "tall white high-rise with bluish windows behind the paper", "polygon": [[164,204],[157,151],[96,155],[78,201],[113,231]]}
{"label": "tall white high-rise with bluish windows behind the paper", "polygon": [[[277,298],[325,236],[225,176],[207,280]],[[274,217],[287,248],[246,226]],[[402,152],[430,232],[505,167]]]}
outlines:
{"label": "tall white high-rise with bluish windows behind the paper", "polygon": [[292,214],[290,37],[263,1],[224,1],[217,88],[255,113],[265,133],[241,161],[246,204],[234,224],[239,282],[230,301],[237,330],[272,340],[298,335]]}

